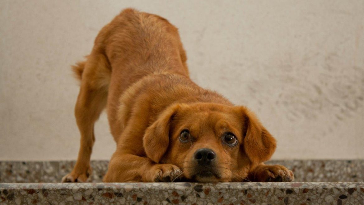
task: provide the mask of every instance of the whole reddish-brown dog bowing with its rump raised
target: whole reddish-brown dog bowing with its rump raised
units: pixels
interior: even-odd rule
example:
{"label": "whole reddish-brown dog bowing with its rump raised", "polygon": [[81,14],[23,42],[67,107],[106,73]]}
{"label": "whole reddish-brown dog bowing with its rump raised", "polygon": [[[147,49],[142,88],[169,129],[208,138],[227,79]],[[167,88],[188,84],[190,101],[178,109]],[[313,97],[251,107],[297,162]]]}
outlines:
{"label": "whole reddish-brown dog bowing with its rump raised", "polygon": [[81,144],[63,182],[91,174],[94,123],[105,106],[117,148],[104,182],[293,180],[284,166],[262,164],[276,141],[252,112],[190,80],[177,28],[162,17],[125,9],[74,71]]}

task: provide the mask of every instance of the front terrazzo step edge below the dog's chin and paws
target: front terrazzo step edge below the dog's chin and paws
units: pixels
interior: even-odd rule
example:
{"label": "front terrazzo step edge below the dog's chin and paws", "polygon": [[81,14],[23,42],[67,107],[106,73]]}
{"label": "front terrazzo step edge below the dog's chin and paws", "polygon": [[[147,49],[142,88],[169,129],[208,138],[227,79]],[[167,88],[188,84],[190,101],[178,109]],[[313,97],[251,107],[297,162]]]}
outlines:
{"label": "front terrazzo step edge below the dog's chin and paws", "polygon": [[361,204],[364,182],[0,184],[3,204]]}

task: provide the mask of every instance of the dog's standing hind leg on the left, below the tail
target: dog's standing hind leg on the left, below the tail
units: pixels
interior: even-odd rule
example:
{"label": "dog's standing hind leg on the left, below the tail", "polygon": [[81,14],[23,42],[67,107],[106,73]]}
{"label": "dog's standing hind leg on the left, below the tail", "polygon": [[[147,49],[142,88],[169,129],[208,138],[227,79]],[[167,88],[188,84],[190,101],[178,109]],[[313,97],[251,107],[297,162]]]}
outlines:
{"label": "dog's standing hind leg on the left, below the tail", "polygon": [[[82,68],[83,67],[83,68]],[[81,140],[77,162],[71,173],[62,182],[86,182],[92,173],[90,156],[95,142],[94,124],[106,106],[111,68],[107,58],[98,51],[92,51],[86,63],[74,67],[80,75],[80,92],[75,106],[75,117]]]}

